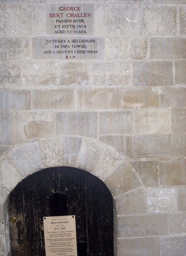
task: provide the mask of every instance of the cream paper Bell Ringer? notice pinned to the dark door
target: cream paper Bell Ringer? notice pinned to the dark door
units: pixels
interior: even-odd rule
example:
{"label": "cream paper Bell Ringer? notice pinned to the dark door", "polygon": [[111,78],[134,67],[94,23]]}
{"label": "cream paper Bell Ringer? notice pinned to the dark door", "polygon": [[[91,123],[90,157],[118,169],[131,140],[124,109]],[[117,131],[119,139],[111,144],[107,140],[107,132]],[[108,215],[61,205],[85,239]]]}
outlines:
{"label": "cream paper Bell Ringer? notice pinned to the dark door", "polygon": [[46,256],[77,256],[75,216],[44,217]]}

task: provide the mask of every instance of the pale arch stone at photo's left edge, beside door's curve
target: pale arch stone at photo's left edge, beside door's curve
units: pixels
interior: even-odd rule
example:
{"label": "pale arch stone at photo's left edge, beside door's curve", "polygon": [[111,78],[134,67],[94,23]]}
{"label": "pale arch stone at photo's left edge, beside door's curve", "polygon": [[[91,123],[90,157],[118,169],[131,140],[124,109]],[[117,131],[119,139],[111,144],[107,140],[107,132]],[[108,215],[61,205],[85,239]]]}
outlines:
{"label": "pale arch stone at photo's left edge, beside door's curve", "polygon": [[10,191],[23,179],[19,168],[11,162],[7,156],[8,152],[4,151],[1,155],[0,161],[0,183],[1,183],[1,196],[0,201],[3,204],[7,199]]}

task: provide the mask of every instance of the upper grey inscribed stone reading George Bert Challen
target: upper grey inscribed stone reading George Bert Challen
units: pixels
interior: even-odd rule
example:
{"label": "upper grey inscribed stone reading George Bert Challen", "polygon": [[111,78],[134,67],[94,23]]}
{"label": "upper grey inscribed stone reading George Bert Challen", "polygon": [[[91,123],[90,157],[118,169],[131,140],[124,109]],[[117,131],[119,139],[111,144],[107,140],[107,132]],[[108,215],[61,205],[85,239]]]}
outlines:
{"label": "upper grey inscribed stone reading George Bert Challen", "polygon": [[54,8],[53,3],[46,11],[46,34],[93,35],[93,4],[66,4],[61,2]]}

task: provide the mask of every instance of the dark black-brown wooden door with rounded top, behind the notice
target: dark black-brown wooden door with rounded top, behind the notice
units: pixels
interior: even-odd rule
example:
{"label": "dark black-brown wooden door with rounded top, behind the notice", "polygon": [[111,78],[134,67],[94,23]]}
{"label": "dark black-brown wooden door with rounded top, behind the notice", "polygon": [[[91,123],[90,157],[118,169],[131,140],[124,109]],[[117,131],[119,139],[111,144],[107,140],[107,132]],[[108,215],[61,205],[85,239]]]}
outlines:
{"label": "dark black-brown wooden door with rounded top, behind the notice", "polygon": [[113,199],[97,177],[77,168],[47,168],[10,194],[13,256],[45,256],[44,216],[76,216],[78,256],[113,256]]}

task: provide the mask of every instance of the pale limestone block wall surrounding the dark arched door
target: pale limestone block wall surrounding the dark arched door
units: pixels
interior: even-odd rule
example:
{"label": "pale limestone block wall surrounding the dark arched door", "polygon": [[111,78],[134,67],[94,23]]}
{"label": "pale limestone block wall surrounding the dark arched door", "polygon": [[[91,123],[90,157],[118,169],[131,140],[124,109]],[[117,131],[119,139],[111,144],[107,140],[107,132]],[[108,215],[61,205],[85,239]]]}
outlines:
{"label": "pale limestone block wall surrounding the dark arched door", "polygon": [[[185,0],[73,1],[93,4],[91,36],[101,38],[103,60],[37,59],[32,39],[53,36],[46,31],[51,1],[30,2],[0,1],[2,211],[32,172],[78,166],[113,194],[115,256],[186,255]],[[33,149],[31,168],[17,175]]]}

